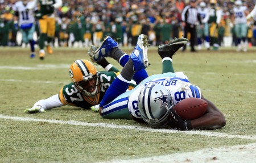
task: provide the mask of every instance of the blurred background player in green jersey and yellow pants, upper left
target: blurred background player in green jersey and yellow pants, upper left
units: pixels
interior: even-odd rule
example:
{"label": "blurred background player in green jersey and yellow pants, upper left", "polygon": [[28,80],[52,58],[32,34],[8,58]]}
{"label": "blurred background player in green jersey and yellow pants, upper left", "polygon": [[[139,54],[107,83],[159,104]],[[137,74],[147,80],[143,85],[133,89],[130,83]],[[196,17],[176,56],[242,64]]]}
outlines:
{"label": "blurred background player in green jersey and yellow pants, upper left", "polygon": [[44,42],[47,41],[47,52],[52,54],[52,47],[50,45],[53,37],[55,36],[55,9],[62,6],[62,0],[34,0],[39,3],[39,10],[35,14],[38,19],[40,36],[38,44],[40,47],[39,58],[44,59]]}

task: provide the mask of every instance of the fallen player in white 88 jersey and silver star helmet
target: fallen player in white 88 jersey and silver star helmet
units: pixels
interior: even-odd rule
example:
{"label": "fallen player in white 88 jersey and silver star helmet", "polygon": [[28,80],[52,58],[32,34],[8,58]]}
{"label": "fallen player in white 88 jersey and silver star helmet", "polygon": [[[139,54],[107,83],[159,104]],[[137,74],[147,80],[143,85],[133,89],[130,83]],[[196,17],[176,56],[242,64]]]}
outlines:
{"label": "fallen player in white 88 jersey and silver star helmet", "polygon": [[[133,74],[147,68],[146,36],[140,35],[129,61],[121,73],[112,82],[100,102],[102,118],[123,118],[138,122],[146,122],[155,128],[171,126],[180,130],[216,129],[225,126],[224,115],[218,108],[201,95],[199,87],[192,85],[183,73],[174,73],[172,55],[188,43],[188,39],[175,39],[158,48],[162,58],[163,74],[156,74],[147,78],[133,90],[126,91]],[[104,49],[102,49],[104,52]],[[96,58],[106,57],[95,52]],[[174,105],[185,98],[202,98],[208,102],[207,111],[203,116],[194,120],[183,120],[174,111]],[[129,114],[129,115],[127,115]]]}

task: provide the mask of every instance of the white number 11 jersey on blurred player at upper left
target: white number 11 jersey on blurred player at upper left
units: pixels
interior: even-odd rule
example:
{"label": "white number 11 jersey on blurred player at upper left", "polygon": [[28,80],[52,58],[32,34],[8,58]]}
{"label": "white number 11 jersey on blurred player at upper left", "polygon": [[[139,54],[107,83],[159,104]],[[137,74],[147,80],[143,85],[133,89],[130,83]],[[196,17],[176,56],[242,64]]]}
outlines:
{"label": "white number 11 jersey on blurred player at upper left", "polygon": [[19,26],[22,28],[23,26],[30,26],[34,24],[34,11],[27,9],[35,9],[35,3],[30,1],[24,6],[22,1],[18,1],[14,4],[14,11],[19,12]]}

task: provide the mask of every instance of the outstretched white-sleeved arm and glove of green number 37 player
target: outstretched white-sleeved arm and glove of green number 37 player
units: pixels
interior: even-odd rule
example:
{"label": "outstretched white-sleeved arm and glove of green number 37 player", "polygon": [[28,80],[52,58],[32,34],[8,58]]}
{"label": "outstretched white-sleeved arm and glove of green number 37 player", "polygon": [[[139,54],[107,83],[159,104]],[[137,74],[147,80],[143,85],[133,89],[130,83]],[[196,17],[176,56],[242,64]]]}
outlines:
{"label": "outstretched white-sleeved arm and glove of green number 37 player", "polygon": [[36,113],[36,112],[46,112],[46,110],[50,110],[52,108],[64,106],[59,99],[59,94],[53,95],[47,99],[41,99],[34,104],[32,108],[26,108],[24,112],[28,113]]}

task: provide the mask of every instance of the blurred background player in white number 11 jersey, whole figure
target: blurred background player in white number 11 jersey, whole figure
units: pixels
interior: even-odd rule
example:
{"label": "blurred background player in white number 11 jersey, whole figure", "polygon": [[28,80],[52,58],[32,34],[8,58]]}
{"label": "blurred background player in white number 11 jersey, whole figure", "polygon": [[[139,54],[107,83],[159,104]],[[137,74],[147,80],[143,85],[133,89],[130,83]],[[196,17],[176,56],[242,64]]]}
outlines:
{"label": "blurred background player in white number 11 jersey, whole figure", "polygon": [[15,19],[19,22],[20,32],[22,32],[22,41],[26,45],[30,43],[31,58],[35,57],[35,41],[33,34],[35,32],[34,11],[36,5],[32,1],[18,1],[14,4]]}

